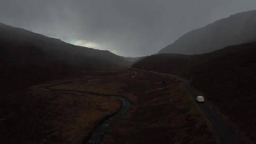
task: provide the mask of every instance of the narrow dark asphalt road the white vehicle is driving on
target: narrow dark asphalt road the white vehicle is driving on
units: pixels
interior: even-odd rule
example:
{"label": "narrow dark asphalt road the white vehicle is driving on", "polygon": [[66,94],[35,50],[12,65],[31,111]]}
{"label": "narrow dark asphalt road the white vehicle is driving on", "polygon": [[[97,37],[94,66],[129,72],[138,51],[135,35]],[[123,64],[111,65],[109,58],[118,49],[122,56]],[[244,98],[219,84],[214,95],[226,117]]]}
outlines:
{"label": "narrow dark asphalt road the white vehicle is driving on", "polygon": [[[140,69],[133,69],[132,70],[138,70],[138,71],[145,71]],[[145,71],[145,72],[153,72],[153,71]],[[179,81],[182,81],[183,88],[192,96],[192,98],[196,101],[196,97],[199,95],[195,90],[192,89],[190,86],[190,81],[187,81],[183,78],[180,78],[179,76],[173,75],[173,74],[166,74],[161,72],[153,72],[165,76],[171,76],[176,78]],[[197,102],[197,101],[196,101]],[[217,135],[219,136],[220,143],[221,144],[243,144],[242,141],[237,137],[234,130],[231,129],[228,125],[228,123],[221,119],[219,114],[212,109],[210,106],[208,106],[206,103],[199,103],[197,102],[198,106],[203,111],[204,115],[209,119],[212,127],[216,131]]]}

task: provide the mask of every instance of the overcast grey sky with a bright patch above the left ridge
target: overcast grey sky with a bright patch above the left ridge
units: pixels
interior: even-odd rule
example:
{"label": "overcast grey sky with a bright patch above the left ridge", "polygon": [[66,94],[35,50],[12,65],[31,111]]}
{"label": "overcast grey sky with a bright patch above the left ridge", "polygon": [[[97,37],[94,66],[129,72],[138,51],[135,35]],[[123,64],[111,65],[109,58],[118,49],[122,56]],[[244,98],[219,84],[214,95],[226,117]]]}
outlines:
{"label": "overcast grey sky with a bright patch above the left ridge", "polygon": [[256,9],[256,0],[0,0],[0,22],[123,56],[155,54],[183,34]]}

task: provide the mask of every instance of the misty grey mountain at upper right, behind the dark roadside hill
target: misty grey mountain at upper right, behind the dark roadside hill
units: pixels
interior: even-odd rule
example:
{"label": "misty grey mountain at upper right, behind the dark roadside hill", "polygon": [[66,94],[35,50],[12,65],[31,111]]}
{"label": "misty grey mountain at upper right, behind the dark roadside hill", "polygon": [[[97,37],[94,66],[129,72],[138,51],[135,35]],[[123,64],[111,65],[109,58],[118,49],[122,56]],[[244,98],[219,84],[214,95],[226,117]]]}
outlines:
{"label": "misty grey mountain at upper right, behind the dark roadside hill", "polygon": [[241,12],[193,30],[166,46],[158,54],[203,54],[256,41],[256,10]]}

